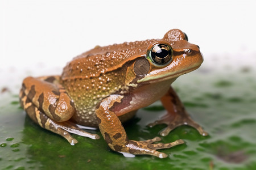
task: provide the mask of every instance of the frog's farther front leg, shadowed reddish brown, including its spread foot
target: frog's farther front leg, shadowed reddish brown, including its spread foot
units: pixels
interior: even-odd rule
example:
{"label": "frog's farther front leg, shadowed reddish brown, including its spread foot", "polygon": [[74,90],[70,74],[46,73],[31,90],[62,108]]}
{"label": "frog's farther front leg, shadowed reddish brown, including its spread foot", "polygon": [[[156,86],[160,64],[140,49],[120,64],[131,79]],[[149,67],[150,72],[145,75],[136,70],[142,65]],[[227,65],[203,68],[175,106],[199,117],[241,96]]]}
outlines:
{"label": "frog's farther front leg, shadowed reddish brown, including its spread foot", "polygon": [[166,95],[161,98],[161,102],[164,108],[166,108],[167,114],[160,118],[160,120],[148,125],[152,127],[158,124],[166,124],[167,128],[160,131],[160,135],[166,136],[171,130],[181,125],[192,126],[199,131],[201,135],[208,135],[208,133],[188,115],[187,111],[185,111],[184,105],[181,103],[172,87],[170,87]]}

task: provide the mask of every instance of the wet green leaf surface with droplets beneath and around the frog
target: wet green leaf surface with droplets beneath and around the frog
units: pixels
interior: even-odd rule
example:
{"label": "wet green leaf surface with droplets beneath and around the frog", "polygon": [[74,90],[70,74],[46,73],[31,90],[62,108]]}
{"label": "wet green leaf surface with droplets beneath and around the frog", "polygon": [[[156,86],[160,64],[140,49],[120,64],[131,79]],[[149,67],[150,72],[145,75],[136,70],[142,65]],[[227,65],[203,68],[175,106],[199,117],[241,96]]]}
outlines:
{"label": "wet green leaf surface with droplets beneath and around the frog", "polygon": [[[19,83],[19,82],[17,82]],[[180,126],[163,142],[183,139],[185,144],[160,150],[166,159],[139,155],[125,158],[111,151],[102,138],[73,135],[79,143],[40,128],[19,107],[18,96],[2,91],[0,97],[0,169],[256,169],[256,79],[253,69],[233,73],[195,71],[173,84],[187,111],[208,131],[201,136]],[[17,86],[18,87],[18,86]],[[140,109],[124,126],[130,139],[159,136],[166,125],[149,128],[164,114],[159,101]]]}

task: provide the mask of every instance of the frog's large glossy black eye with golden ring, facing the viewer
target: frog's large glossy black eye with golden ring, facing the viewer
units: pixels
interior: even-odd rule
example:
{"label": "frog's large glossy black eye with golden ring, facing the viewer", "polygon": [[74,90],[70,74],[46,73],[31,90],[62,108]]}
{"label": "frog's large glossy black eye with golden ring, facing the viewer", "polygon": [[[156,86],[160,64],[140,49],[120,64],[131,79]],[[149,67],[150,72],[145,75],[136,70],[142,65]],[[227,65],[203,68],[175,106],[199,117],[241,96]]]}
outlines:
{"label": "frog's large glossy black eye with golden ring, facing the viewer", "polygon": [[148,56],[157,65],[164,65],[172,59],[172,48],[167,44],[155,44]]}

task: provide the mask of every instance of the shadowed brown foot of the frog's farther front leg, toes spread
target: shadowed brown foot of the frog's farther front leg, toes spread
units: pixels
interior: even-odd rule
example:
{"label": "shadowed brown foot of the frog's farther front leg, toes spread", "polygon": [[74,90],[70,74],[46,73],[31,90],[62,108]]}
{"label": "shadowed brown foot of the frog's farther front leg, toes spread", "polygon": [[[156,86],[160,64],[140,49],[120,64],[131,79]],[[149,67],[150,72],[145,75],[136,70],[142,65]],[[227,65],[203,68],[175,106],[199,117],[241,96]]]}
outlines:
{"label": "shadowed brown foot of the frog's farther front leg, toes spread", "polygon": [[203,128],[199,124],[197,124],[195,121],[192,120],[192,118],[188,115],[187,112],[184,112],[183,114],[175,114],[175,115],[167,113],[162,118],[160,118],[160,120],[157,120],[152,124],[148,124],[148,126],[153,127],[153,126],[159,125],[159,124],[167,125],[167,128],[160,131],[160,135],[162,135],[162,136],[168,135],[170,133],[170,131],[174,130],[175,128],[177,128],[178,126],[181,126],[181,125],[192,126],[197,131],[199,131],[199,133],[201,135],[203,135],[203,136],[208,135],[208,133],[206,131],[204,131]]}

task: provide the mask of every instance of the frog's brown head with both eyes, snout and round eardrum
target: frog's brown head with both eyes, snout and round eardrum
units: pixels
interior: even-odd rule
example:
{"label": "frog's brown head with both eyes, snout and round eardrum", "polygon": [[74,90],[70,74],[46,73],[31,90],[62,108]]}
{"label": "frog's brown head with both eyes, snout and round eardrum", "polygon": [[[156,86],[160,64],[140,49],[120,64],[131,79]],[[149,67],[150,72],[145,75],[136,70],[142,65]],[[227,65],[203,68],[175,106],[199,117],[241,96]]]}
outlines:
{"label": "frog's brown head with both eyes, snout and round eardrum", "polygon": [[174,79],[196,70],[203,62],[199,46],[189,43],[187,35],[179,29],[171,29],[145,51],[146,55],[133,64],[137,83]]}

